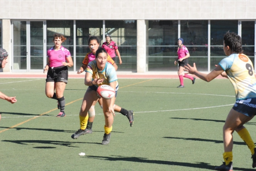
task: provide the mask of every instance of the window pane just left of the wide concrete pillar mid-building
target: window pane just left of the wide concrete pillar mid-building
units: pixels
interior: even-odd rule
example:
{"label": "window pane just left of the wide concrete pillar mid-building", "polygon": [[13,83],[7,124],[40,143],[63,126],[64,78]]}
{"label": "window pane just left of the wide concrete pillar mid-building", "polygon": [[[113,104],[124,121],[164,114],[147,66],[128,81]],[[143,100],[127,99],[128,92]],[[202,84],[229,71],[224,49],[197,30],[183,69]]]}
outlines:
{"label": "window pane just left of the wide concrete pillar mid-building", "polygon": [[136,20],[107,20],[105,34],[117,43],[122,58],[118,71],[137,71],[137,22]]}

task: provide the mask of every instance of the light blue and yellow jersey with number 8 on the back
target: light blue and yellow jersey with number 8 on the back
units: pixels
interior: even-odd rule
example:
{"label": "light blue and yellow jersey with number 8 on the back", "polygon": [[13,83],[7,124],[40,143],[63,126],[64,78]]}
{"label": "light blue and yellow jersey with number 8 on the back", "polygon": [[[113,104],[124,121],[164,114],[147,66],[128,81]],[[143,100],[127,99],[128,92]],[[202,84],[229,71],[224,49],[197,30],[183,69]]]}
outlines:
{"label": "light blue and yellow jersey with number 8 on the back", "polygon": [[236,100],[256,98],[256,78],[251,60],[245,54],[231,54],[219,62],[234,86]]}

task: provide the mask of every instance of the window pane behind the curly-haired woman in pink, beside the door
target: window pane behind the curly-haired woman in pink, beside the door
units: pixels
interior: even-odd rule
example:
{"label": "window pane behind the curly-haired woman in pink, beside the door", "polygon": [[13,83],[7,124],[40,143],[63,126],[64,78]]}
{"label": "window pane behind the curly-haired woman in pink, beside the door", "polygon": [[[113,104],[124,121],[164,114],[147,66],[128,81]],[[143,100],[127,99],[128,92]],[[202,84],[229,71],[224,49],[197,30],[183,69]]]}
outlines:
{"label": "window pane behind the curly-haired woman in pink, beside the door", "polygon": [[[62,43],[62,46],[67,48],[70,51],[72,60],[74,61],[74,21],[73,20],[47,20],[47,49],[50,49],[54,46],[52,42],[53,35],[55,33],[62,34],[67,38],[65,42]],[[74,68],[71,67],[70,71],[73,71]]]}

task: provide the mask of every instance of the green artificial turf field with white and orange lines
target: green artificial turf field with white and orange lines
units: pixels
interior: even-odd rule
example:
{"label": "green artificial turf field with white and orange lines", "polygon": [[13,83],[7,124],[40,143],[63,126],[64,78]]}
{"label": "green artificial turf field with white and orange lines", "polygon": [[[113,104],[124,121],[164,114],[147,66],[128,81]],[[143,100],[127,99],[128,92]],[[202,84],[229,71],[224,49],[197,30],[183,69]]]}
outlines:
{"label": "green artificial turf field with white and orange lines", "polygon": [[[134,126],[116,112],[108,145],[101,145],[104,116],[95,105],[93,133],[72,139],[87,86],[69,79],[66,117],[45,95],[45,79],[2,78],[0,171],[206,171],[222,164],[222,127],[235,102],[228,79],[119,79],[116,103],[134,110]],[[256,142],[255,120],[247,123]],[[251,171],[251,153],[234,132],[234,171]],[[78,154],[84,152],[85,156]]]}

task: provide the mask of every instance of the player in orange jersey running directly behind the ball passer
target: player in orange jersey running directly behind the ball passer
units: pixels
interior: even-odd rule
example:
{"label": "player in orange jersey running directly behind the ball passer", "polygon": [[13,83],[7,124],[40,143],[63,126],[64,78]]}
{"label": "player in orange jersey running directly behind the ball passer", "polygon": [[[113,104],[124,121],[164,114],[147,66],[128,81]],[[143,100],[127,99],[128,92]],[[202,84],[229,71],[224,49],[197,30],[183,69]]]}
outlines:
{"label": "player in orange jersey running directly behind the ball passer", "polygon": [[[78,74],[85,71],[89,62],[95,60],[95,53],[99,48],[99,39],[95,36],[90,37],[88,39],[88,45],[89,45],[90,52],[86,54],[85,59],[82,61],[82,66],[77,71]],[[112,64],[114,66],[115,70],[117,70],[117,68],[118,68],[117,64],[115,64],[115,62],[112,60],[112,58],[108,54],[107,54],[107,62]],[[102,108],[102,98],[99,98],[98,101],[99,101],[100,107]],[[89,109],[88,124],[87,124],[87,127],[86,127],[85,131],[82,132],[82,134],[91,134],[92,133],[92,124],[93,124],[94,117],[95,117],[95,108],[94,107],[95,107],[96,103],[97,103],[97,101],[95,101]],[[129,120],[129,123],[130,123],[130,126],[132,127],[133,121],[134,121],[133,120],[133,115],[134,115],[133,111],[132,110],[126,110],[126,109],[124,109],[124,108],[122,108],[118,105],[114,105],[113,108],[114,108],[115,112],[120,112],[122,115],[127,116],[128,120]]]}

